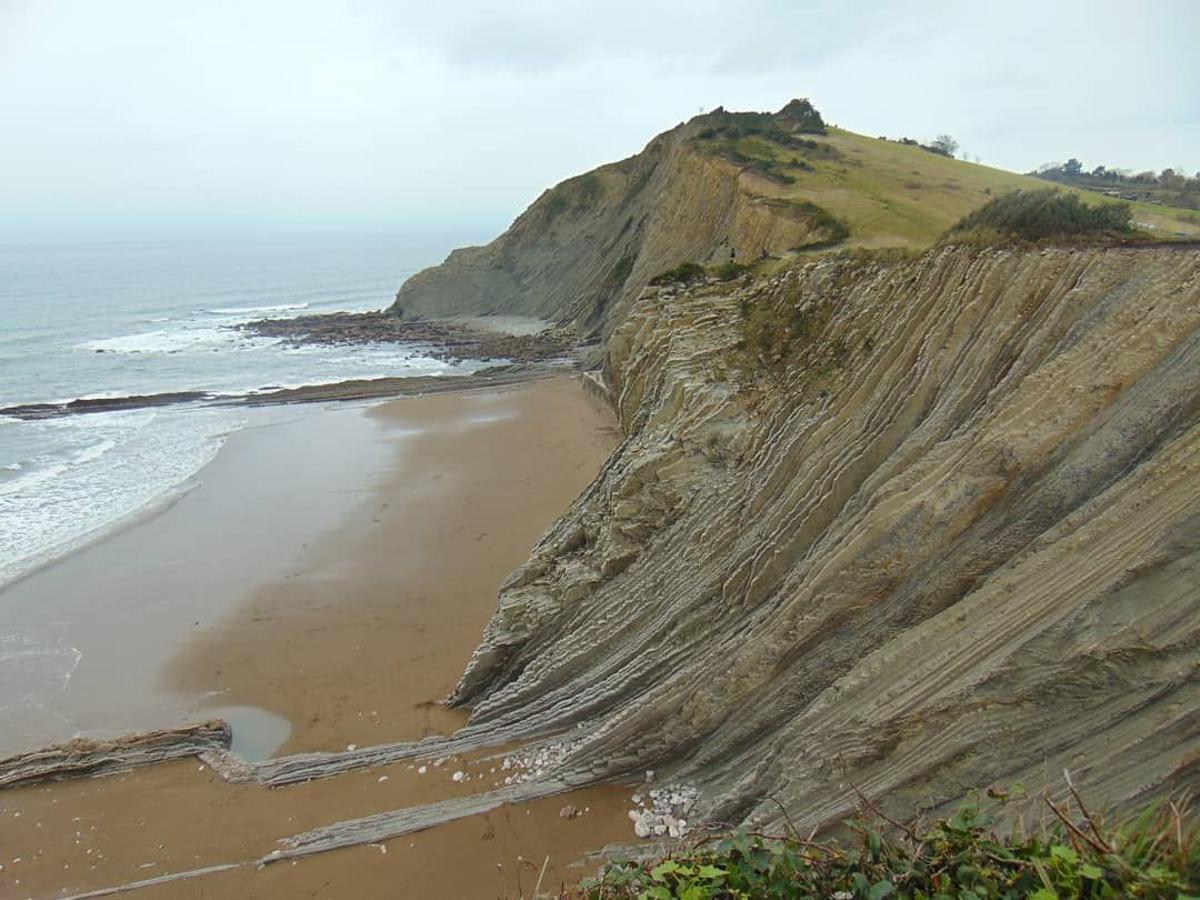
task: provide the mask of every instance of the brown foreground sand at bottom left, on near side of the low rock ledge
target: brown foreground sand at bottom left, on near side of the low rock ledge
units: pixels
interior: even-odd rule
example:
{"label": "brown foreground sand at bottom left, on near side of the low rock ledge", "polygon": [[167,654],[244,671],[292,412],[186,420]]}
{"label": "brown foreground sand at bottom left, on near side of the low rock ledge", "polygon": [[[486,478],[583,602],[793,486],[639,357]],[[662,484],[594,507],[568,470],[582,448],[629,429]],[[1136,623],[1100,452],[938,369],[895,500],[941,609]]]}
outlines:
{"label": "brown foreground sand at bottom left, on near side of the low rock ledge", "polygon": [[[7,791],[0,793],[5,866],[0,896],[67,896],[169,872],[252,863],[275,850],[278,838],[472,790],[485,785],[456,785],[449,767],[420,776],[395,764],[265,788],[228,785],[208,767],[184,761],[128,775]],[[575,791],[382,845],[320,853],[295,865],[251,864],[132,895],[395,900],[516,898],[523,892],[530,896],[547,856],[544,888],[578,881],[598,865],[587,859],[590,852],[629,839],[629,793],[616,787]],[[581,815],[562,818],[566,804]]]}

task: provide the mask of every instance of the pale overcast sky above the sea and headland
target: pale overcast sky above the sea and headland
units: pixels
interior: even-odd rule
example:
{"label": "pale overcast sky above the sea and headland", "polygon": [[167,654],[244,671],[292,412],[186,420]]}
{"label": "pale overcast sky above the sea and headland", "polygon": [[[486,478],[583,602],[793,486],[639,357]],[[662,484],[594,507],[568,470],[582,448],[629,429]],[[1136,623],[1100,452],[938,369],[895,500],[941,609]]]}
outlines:
{"label": "pale overcast sky above the sea and headland", "polygon": [[1200,169],[1200,2],[0,0],[0,241],[485,238],[701,109]]}

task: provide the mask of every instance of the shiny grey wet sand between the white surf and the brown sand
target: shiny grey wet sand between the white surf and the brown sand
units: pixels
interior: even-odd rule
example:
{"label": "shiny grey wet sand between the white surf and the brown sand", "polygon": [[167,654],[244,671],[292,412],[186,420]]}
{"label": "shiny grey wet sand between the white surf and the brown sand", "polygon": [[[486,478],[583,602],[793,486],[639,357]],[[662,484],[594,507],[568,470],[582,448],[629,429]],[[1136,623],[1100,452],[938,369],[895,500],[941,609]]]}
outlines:
{"label": "shiny grey wet sand between the white surf and the brown sand", "polygon": [[352,406],[245,414],[193,490],[0,590],[0,632],[43,652],[0,673],[0,754],[193,720],[167,661],[349,520],[403,439]]}

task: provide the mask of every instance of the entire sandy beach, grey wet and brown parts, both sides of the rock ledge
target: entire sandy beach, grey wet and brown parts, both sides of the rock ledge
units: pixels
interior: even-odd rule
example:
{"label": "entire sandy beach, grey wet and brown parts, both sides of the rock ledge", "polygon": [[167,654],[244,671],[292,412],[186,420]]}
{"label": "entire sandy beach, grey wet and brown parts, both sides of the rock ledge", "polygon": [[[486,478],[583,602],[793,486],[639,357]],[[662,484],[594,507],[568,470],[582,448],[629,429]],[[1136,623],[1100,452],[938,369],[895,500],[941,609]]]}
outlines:
{"label": "entire sandy beach, grey wet and brown parts, both sides of the rock ledge", "polygon": [[[82,654],[56,708],[26,715],[26,744],[38,728],[58,739],[214,713],[251,756],[454,731],[466,713],[438,701],[499,582],[618,437],[571,378],[272,410],[256,425],[166,510],[0,594],[13,626],[50,605]],[[487,790],[497,764],[460,762],[470,784],[449,767],[421,775],[396,763],[269,790],[192,760],[7,791],[0,894],[66,896],[241,863],[306,828]],[[139,895],[528,894],[546,856],[544,886],[557,884],[586,872],[587,852],[628,838],[628,793],[592,788]],[[566,804],[587,811],[560,818]]]}

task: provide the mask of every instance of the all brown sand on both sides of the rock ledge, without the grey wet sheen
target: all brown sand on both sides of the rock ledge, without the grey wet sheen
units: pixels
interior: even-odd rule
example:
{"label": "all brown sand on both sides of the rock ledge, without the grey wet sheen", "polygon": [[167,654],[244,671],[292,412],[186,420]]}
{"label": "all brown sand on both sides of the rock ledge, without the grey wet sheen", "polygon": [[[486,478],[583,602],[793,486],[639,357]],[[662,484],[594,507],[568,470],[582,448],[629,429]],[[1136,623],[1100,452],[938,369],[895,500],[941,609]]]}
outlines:
{"label": "all brown sand on both sides of the rock ledge, without the grey wet sheen", "polygon": [[[323,419],[337,426],[329,415],[318,414],[305,428],[312,432]],[[457,727],[463,714],[436,701],[474,649],[499,582],[617,439],[610,414],[565,378],[403,400],[367,416],[389,438],[376,476],[358,476],[353,503],[335,503],[337,521],[305,540],[301,552],[265,550],[281,535],[307,534],[296,522],[281,521],[260,535],[272,576],[210,625],[192,629],[162,670],[181,697],[216,692],[202,706],[257,707],[290,720],[286,751],[362,746]],[[336,445],[330,437],[313,439]],[[271,479],[266,462],[259,476]],[[302,498],[305,485],[292,490]],[[160,518],[181,508],[184,502]],[[302,504],[284,512],[302,516]],[[242,551],[254,553],[254,542]],[[499,768],[496,761],[431,766],[426,775],[416,773],[418,764],[270,790],[224,784],[187,761],[4,792],[0,896],[64,896],[247,862],[282,836],[485,791],[500,779],[491,773]],[[456,768],[475,776],[455,784]],[[583,875],[578,864],[588,851],[629,838],[628,794],[628,788],[589,788],[398,838],[386,850],[356,847],[294,866],[241,868],[138,895],[529,895],[547,854],[544,889]],[[589,811],[563,820],[566,804]]]}

